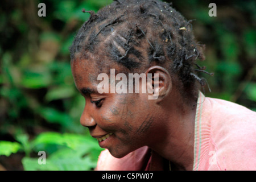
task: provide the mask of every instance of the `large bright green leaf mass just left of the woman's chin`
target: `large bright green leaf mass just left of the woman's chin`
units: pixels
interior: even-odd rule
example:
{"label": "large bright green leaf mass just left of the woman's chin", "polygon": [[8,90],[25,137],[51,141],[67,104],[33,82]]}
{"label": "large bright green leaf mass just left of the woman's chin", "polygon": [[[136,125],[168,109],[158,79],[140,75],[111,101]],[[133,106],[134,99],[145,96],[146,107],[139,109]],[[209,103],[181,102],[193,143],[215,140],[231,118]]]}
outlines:
{"label": "large bright green leaf mass just left of the woman's chin", "polygon": [[52,144],[63,147],[49,154],[45,165],[39,165],[38,158],[24,158],[22,163],[25,170],[90,170],[96,167],[98,155],[103,150],[89,135],[70,133],[42,133],[32,143],[33,146],[44,144],[45,148]]}

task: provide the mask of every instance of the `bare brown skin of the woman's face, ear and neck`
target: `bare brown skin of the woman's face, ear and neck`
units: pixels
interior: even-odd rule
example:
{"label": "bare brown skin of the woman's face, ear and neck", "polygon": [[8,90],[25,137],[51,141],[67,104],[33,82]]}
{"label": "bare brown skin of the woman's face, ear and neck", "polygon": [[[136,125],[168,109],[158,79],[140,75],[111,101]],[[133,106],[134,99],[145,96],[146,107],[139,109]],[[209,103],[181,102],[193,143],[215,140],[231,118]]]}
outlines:
{"label": "bare brown skin of the woman's face, ear and neck", "polygon": [[100,146],[116,158],[148,146],[169,160],[172,169],[192,170],[196,107],[183,101],[174,77],[157,65],[146,70],[146,75],[159,74],[159,89],[153,93],[159,96],[156,100],[148,100],[149,93],[99,94],[100,81],[93,72],[97,65],[93,63],[76,59],[71,68],[76,87],[86,100],[81,125],[88,127],[94,138],[112,134],[99,142]]}

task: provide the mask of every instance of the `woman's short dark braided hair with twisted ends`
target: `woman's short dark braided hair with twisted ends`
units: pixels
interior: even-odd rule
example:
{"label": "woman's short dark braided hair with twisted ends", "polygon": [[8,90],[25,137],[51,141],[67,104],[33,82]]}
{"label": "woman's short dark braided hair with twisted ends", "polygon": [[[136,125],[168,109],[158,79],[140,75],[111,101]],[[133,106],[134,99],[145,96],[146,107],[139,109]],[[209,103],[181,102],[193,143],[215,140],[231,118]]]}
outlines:
{"label": "woman's short dark braided hair with twisted ends", "polygon": [[208,73],[195,63],[197,59],[204,60],[202,45],[193,36],[191,20],[186,20],[170,3],[115,0],[97,14],[83,11],[90,13],[90,18],[73,41],[71,61],[101,55],[105,59],[95,59],[101,71],[108,59],[122,65],[126,73],[160,65],[177,77],[176,84],[184,97],[196,100],[198,83],[207,83],[196,75]]}

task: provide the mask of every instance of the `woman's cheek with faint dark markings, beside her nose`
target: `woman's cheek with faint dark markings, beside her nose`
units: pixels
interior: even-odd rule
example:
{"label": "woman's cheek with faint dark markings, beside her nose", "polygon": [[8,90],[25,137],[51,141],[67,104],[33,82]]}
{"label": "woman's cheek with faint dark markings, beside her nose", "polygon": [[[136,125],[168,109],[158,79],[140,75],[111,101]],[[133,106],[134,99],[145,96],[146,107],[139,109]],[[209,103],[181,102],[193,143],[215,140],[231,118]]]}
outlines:
{"label": "woman's cheek with faint dark markings, beside her nose", "polygon": [[117,96],[111,103],[102,107],[98,125],[110,132],[124,136],[143,135],[151,126],[148,103],[135,96]]}

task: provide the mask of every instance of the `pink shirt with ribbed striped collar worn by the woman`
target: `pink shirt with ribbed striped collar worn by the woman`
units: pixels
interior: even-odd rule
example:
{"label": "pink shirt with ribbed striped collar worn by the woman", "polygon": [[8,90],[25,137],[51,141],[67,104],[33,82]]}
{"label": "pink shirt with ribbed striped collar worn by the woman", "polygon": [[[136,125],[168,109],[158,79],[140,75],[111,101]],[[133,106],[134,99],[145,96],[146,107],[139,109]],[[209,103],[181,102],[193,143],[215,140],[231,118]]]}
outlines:
{"label": "pink shirt with ribbed striped collar worn by the woman", "polygon": [[[256,113],[201,92],[197,103],[193,170],[256,170]],[[156,170],[160,160],[146,146],[121,159],[104,150],[96,170]]]}

